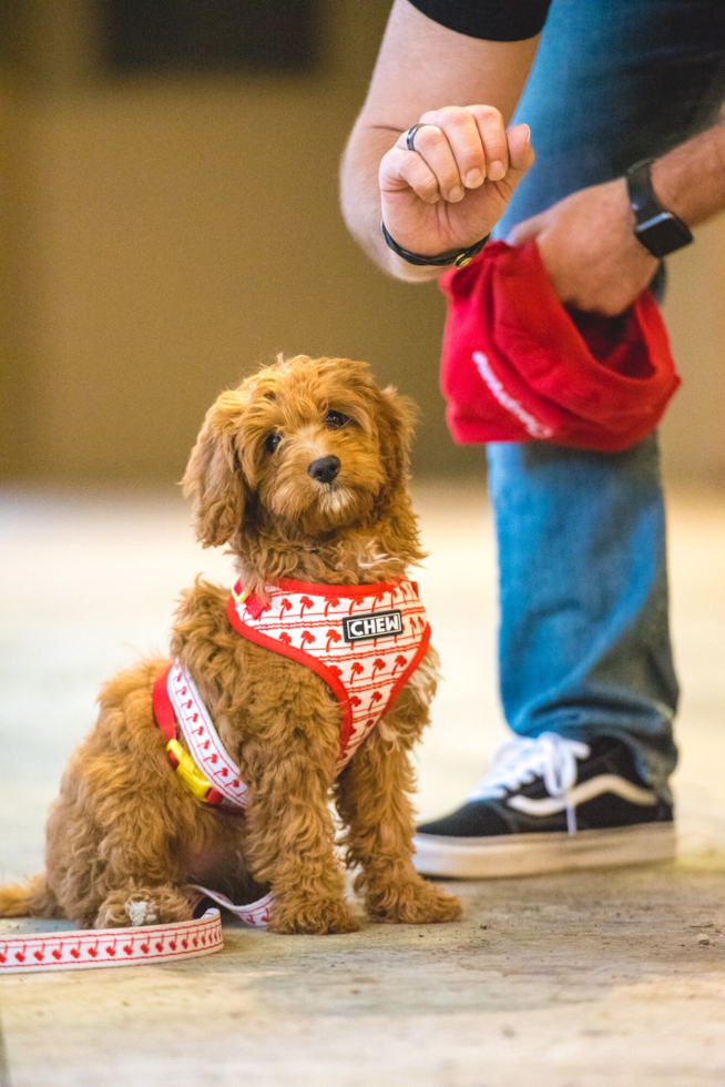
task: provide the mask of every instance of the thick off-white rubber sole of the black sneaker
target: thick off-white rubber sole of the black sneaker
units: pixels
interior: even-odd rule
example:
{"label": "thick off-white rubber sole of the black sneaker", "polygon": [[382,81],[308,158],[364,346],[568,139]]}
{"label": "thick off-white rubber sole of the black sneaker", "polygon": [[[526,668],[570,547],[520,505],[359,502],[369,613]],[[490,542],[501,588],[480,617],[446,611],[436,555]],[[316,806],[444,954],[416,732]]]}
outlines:
{"label": "thick off-white rubber sole of the black sneaker", "polygon": [[604,831],[565,831],[490,837],[416,834],[413,864],[421,875],[498,880],[576,868],[671,861],[677,851],[674,823],[641,823]]}

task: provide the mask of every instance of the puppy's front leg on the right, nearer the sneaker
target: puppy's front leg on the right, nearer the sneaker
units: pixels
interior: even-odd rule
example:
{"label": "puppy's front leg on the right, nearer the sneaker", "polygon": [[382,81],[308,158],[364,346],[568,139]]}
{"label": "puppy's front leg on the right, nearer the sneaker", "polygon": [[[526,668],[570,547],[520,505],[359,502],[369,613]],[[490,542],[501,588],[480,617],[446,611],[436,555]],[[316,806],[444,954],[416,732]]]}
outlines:
{"label": "puppy's front leg on the right, nearer the sneaker", "polygon": [[427,883],[411,860],[409,793],[416,782],[409,749],[427,720],[426,702],[404,689],[337,783],[337,805],[348,827],[347,863],[361,866],[355,890],[365,893],[376,921],[430,924],[461,915],[459,900]]}

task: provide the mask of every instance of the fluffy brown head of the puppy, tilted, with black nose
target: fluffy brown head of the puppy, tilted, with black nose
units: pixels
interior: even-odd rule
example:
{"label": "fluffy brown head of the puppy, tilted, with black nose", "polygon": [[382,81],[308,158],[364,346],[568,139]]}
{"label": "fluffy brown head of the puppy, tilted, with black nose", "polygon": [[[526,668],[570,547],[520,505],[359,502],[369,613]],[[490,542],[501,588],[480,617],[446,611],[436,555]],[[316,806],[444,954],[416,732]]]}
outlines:
{"label": "fluffy brown head of the puppy, tilted, with black nose", "polygon": [[255,524],[309,538],[369,519],[405,488],[413,415],[366,363],[280,357],[206,415],[184,476],[198,539],[234,544]]}

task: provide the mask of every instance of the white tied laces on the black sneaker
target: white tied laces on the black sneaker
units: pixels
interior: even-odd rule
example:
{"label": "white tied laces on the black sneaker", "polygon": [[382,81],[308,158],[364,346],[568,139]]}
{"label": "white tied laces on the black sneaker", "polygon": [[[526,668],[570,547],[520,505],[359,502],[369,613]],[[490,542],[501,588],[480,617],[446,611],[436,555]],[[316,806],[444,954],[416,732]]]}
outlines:
{"label": "white tied laces on the black sneaker", "polygon": [[[501,800],[509,790],[528,785],[543,778],[550,796],[568,800],[576,782],[576,760],[588,759],[591,749],[579,740],[568,740],[556,732],[542,732],[535,740],[518,736],[499,748],[491,769],[468,798],[469,800]],[[566,803],[566,829],[576,833],[576,813]]]}

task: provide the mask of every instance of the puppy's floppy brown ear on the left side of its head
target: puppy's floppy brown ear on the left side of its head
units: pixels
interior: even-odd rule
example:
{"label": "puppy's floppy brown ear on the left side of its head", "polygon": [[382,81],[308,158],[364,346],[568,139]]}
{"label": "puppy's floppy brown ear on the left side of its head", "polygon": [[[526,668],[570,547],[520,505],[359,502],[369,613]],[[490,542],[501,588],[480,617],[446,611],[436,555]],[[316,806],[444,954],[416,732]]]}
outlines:
{"label": "puppy's floppy brown ear on the left side of its head", "polygon": [[182,480],[184,495],[195,501],[196,538],[204,547],[221,547],[238,529],[247,485],[235,446],[244,408],[238,389],[222,393],[206,413]]}

